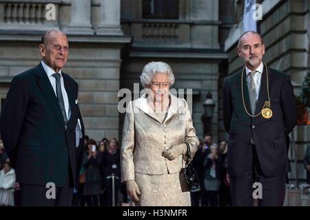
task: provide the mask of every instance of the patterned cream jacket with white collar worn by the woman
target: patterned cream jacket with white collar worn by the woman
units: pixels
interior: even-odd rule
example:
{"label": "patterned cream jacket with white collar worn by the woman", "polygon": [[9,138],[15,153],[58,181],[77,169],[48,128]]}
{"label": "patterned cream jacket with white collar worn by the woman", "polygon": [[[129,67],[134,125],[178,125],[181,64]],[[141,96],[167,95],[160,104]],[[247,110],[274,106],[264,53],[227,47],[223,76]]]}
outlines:
{"label": "patterned cream jacket with white collar worn by the woman", "polygon": [[156,119],[147,98],[129,102],[121,146],[121,181],[134,179],[134,173],[161,175],[185,168],[184,155],[170,161],[162,156],[171,146],[187,142],[192,158],[198,150],[198,137],[187,102],[169,94],[170,107],[165,121]]}

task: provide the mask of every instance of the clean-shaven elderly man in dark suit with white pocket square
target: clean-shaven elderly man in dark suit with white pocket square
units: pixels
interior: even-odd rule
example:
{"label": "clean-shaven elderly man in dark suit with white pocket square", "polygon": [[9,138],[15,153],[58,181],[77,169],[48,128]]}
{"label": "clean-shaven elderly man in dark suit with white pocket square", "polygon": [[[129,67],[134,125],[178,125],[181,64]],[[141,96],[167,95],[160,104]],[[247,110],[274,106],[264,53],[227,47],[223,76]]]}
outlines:
{"label": "clean-shaven elderly man in dark suit with white pocket square", "polygon": [[71,206],[83,155],[78,84],[61,72],[69,50],[63,32],[45,32],[39,48],[39,65],[12,79],[1,137],[17,171],[21,205]]}

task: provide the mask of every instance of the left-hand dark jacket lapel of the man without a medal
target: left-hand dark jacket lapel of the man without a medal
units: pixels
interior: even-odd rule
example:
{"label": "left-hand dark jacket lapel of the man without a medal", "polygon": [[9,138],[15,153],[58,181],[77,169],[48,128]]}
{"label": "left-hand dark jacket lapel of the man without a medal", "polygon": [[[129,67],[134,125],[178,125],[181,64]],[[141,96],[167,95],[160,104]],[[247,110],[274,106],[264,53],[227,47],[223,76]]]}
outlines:
{"label": "left-hand dark jacket lapel of the man without a medal", "polygon": [[65,130],[65,122],[63,120],[63,114],[61,113],[61,108],[54,93],[54,89],[50,84],[50,80],[48,79],[48,75],[45,73],[41,63],[37,66],[35,75],[38,78],[37,84],[39,85],[45,98],[48,100],[48,104],[50,104],[50,107],[54,112],[54,115],[56,116],[61,129]]}

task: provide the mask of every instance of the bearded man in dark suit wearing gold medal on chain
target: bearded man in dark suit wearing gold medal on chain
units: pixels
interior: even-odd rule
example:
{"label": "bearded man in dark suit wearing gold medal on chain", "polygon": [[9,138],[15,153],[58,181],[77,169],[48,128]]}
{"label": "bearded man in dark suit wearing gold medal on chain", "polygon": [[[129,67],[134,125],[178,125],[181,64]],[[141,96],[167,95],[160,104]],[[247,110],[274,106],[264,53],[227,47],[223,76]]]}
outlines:
{"label": "bearded man in dark suit wearing gold medal on chain", "polygon": [[262,63],[264,54],[260,34],[245,32],[238,41],[245,66],[224,79],[227,168],[234,206],[254,205],[255,181],[262,186],[259,206],[282,206],[285,199],[285,136],[297,122],[296,102],[290,76]]}

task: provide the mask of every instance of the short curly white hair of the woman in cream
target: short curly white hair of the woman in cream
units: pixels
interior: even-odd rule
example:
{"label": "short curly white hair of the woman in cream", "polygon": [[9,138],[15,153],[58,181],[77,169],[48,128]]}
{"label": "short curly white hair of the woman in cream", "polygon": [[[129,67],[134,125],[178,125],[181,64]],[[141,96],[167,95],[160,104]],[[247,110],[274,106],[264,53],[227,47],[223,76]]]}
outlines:
{"label": "short curly white hair of the woman in cream", "polygon": [[165,62],[149,62],[143,68],[142,74],[140,76],[141,83],[144,88],[149,87],[152,83],[152,78],[157,73],[166,74],[169,78],[169,85],[174,85],[174,73],[171,67]]}

